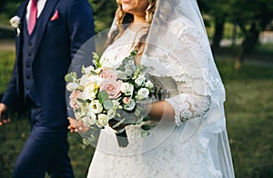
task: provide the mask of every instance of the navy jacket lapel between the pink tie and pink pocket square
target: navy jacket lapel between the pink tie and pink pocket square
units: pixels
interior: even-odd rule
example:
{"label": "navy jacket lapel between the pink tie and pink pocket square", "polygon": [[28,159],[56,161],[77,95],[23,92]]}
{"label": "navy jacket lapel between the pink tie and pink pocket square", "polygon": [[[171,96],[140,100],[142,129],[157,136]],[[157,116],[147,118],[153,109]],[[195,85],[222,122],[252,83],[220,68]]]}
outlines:
{"label": "navy jacket lapel between the pink tie and pink pocket square", "polygon": [[34,50],[35,54],[43,38],[45,27],[51,17],[50,15],[52,14],[52,11],[55,9],[54,7],[57,2],[58,0],[46,0],[45,7],[42,11],[42,14],[39,17],[40,18],[39,26],[36,26],[36,33],[35,33],[35,36],[33,36],[33,41],[35,43],[35,50]]}

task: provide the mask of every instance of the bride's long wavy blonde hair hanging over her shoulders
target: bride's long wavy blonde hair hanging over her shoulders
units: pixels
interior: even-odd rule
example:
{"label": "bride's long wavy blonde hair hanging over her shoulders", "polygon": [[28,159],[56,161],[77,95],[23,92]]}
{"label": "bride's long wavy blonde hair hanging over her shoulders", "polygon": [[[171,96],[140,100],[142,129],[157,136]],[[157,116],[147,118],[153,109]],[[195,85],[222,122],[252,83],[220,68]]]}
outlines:
{"label": "bride's long wavy blonde hair hanging over her shoulders", "polygon": [[[153,21],[154,14],[157,9],[157,1],[158,0],[148,0],[149,5],[146,9],[146,21],[148,26],[143,27],[144,29],[144,35],[142,35],[139,38],[139,42],[135,45],[135,50],[137,51],[137,55],[142,55],[145,47],[145,41],[147,39],[149,27]],[[133,22],[134,17],[131,14],[128,14],[123,11],[121,0],[116,0],[117,8],[116,8],[116,29],[110,33],[108,40],[106,42],[106,45],[112,44],[117,38],[119,38],[125,31],[125,27],[127,27],[128,24]]]}

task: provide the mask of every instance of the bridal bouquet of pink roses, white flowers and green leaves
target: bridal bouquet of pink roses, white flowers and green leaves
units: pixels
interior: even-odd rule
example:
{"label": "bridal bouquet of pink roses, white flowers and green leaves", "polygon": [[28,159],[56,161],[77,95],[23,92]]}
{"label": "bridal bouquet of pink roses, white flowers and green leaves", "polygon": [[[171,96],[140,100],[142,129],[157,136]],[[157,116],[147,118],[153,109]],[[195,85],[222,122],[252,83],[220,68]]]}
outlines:
{"label": "bridal bouquet of pink roses, white flowers and green leaves", "polygon": [[[82,76],[66,74],[66,89],[71,92],[69,105],[76,119],[86,126],[104,128],[109,124],[116,130],[117,143],[126,147],[128,140],[125,126],[147,121],[147,107],[157,94],[148,80],[146,68],[136,65],[136,51],[131,52],[117,68],[103,67],[101,58],[94,53],[95,66],[83,66]],[[106,60],[105,60],[106,61]],[[149,127],[142,125],[143,134]]]}

